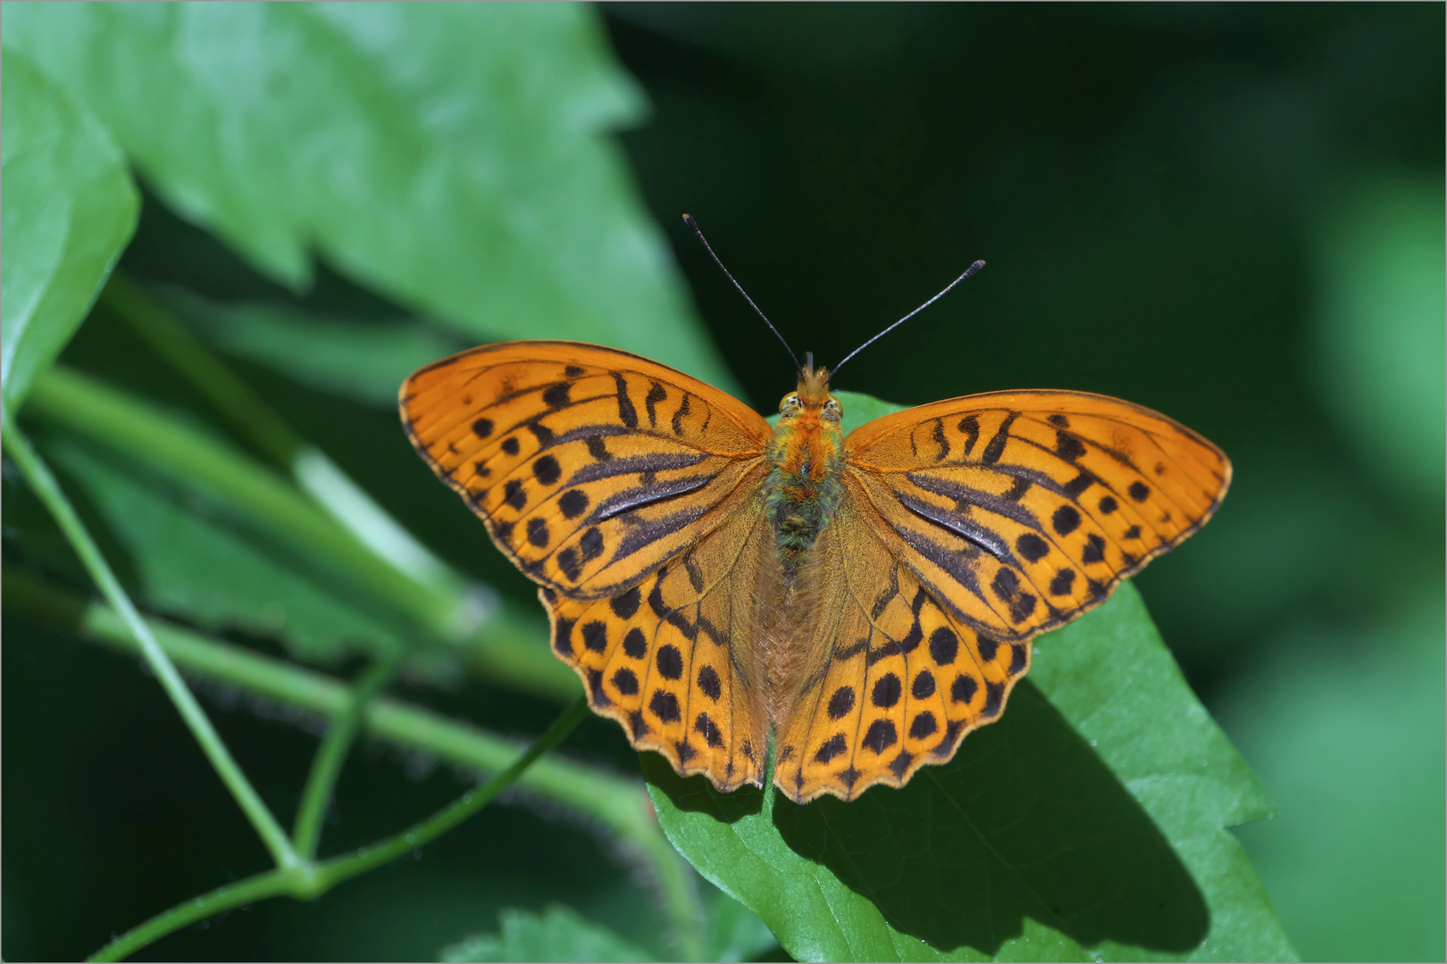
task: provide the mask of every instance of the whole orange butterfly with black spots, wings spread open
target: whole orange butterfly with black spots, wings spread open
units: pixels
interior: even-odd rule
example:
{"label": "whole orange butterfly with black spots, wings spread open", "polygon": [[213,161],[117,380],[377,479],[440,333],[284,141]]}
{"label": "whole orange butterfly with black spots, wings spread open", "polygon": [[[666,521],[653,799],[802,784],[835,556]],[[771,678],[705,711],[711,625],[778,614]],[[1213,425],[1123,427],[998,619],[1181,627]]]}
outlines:
{"label": "whole orange butterfly with black spots, wings spread open", "polygon": [[596,713],[721,791],[763,786],[773,739],[802,804],[949,760],[1030,639],[1205,525],[1231,477],[1192,431],[1084,392],[971,395],[845,438],[829,376],[800,366],[770,428],[635,354],[512,341],[418,370],[401,410],[541,587]]}

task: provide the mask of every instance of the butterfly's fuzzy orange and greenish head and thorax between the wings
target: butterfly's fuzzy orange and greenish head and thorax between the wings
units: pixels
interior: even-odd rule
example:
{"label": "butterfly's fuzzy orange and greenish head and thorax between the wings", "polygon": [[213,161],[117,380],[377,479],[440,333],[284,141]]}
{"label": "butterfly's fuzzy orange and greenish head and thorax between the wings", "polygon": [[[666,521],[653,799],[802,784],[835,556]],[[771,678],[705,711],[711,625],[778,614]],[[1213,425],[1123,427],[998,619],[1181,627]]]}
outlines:
{"label": "butterfly's fuzzy orange and greenish head and thorax between the wings", "polygon": [[829,395],[825,369],[803,371],[799,389],[778,405],[778,425],[768,444],[770,473],[764,481],[768,520],[786,572],[809,556],[815,539],[829,525],[844,493],[842,409]]}

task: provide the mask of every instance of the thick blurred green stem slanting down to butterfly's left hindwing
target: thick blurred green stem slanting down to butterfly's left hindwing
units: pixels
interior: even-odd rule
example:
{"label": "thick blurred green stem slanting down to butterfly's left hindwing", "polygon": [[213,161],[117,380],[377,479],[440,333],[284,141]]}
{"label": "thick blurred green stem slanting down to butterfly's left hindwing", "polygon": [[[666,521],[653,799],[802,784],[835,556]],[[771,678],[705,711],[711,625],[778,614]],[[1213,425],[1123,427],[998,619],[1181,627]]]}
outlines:
{"label": "thick blurred green stem slanting down to butterfly's left hindwing", "polygon": [[116,447],[232,506],[298,552],[376,593],[434,634],[466,642],[483,675],[548,700],[577,695],[577,678],[537,645],[546,632],[537,617],[504,604],[479,633],[460,639],[459,623],[469,620],[459,620],[459,607],[470,608],[469,600],[407,578],[285,478],[153,405],[55,366],[38,379],[26,413]]}

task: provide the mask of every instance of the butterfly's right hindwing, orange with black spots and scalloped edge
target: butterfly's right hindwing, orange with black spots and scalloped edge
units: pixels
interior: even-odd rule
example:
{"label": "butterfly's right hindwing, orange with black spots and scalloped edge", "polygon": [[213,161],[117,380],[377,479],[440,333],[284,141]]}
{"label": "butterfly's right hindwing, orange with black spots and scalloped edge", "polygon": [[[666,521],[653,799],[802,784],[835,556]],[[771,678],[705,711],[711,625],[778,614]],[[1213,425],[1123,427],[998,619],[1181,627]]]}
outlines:
{"label": "butterfly's right hindwing, orange with black spots and scalloped edge", "polygon": [[896,558],[857,483],[815,543],[818,619],[776,736],[774,783],[797,802],[903,786],[993,723],[1030,663],[955,619]]}

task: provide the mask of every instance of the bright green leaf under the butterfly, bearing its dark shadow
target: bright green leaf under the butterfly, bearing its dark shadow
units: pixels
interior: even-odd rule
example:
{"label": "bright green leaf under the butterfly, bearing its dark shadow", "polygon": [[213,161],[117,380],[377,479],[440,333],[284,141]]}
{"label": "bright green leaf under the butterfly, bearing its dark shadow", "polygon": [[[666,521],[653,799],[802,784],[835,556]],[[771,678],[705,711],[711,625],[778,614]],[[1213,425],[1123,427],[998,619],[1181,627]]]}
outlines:
{"label": "bright green leaf under the butterfly, bearing its dark shadow", "polygon": [[1269,802],[1134,588],[1036,646],[1004,718],[901,791],[797,806],[645,754],[658,819],[799,960],[1291,958],[1224,830]]}

